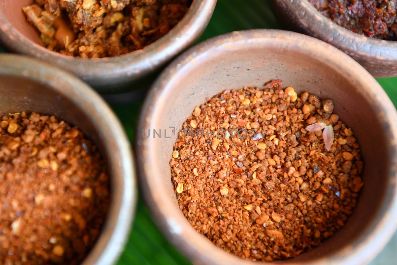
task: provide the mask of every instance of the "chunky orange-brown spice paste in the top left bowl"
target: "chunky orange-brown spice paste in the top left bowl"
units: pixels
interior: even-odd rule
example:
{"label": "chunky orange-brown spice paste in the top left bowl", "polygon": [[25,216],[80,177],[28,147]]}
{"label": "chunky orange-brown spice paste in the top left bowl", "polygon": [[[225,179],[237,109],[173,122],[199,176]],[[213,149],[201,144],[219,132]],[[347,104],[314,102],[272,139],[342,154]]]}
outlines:
{"label": "chunky orange-brown spice paste in the top left bowl", "polygon": [[23,8],[46,47],[82,58],[118,56],[164,36],[192,0],[36,0]]}

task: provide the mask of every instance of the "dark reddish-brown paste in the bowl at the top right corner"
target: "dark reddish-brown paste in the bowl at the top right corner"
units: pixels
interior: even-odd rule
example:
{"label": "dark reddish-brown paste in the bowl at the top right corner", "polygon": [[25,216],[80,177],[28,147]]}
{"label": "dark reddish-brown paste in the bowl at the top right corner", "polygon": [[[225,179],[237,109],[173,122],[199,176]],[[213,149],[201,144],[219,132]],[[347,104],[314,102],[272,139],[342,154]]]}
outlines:
{"label": "dark reddish-brown paste in the bowl at the top right corner", "polygon": [[397,41],[397,0],[308,0],[338,25],[367,37]]}

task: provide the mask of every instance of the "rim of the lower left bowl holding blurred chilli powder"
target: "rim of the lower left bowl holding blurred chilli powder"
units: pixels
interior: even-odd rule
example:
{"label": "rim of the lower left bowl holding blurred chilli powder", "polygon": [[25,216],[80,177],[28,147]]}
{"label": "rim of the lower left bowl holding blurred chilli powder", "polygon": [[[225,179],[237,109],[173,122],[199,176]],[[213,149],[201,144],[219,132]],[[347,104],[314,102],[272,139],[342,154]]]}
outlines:
{"label": "rim of the lower left bowl holding blurred chilli powder", "polygon": [[[39,60],[15,54],[0,54],[0,75],[28,78],[38,83],[45,83],[60,95],[67,95],[67,98],[75,105],[81,106],[82,111],[87,115],[90,114],[88,111],[94,108],[97,114],[89,115],[93,124],[108,124],[109,130],[103,131],[103,135],[101,133],[98,135],[103,145],[108,146],[106,149],[116,147],[115,157],[121,159],[119,161],[108,159],[108,162],[113,168],[110,169],[112,176],[121,172],[123,186],[120,186],[122,190],[119,190],[118,197],[114,197],[114,204],[109,207],[100,236],[81,265],[114,264],[128,239],[137,202],[135,163],[132,159],[130,142],[118,118],[108,104],[83,81]],[[100,132],[99,125],[95,126],[95,130]],[[110,137],[113,148],[110,147]],[[111,215],[114,213],[116,216]],[[100,250],[102,252],[98,255],[97,252]]]}

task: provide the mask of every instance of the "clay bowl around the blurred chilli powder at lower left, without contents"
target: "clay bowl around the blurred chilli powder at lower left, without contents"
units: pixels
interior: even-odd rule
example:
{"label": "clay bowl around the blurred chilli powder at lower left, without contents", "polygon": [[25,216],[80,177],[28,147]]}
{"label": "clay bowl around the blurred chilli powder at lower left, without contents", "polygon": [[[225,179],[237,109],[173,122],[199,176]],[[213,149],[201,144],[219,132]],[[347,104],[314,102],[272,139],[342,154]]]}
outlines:
{"label": "clay bowl around the blurred chilli powder at lower left, without contents", "polygon": [[20,111],[62,118],[100,148],[111,178],[108,217],[82,265],[114,264],[135,211],[135,167],[129,140],[109,106],[71,74],[23,56],[0,55],[0,115]]}

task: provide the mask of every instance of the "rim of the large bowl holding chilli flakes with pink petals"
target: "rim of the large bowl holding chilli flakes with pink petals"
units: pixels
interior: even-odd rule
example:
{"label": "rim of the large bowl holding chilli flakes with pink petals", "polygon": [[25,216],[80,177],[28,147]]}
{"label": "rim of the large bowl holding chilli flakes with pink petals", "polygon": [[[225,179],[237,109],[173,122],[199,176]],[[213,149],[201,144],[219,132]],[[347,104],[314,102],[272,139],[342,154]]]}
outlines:
{"label": "rim of the large bowl holding chilli flakes with pink petals", "polygon": [[[284,43],[283,43],[284,42]],[[287,43],[287,44],[286,44]],[[212,242],[202,235],[199,235],[187,222],[181,211],[176,207],[172,198],[164,191],[157,181],[157,175],[161,175],[160,170],[156,170],[156,163],[153,162],[153,153],[156,152],[156,146],[152,138],[139,137],[139,132],[147,128],[156,128],[153,122],[153,116],[156,113],[164,111],[164,103],[168,97],[172,96],[173,87],[170,87],[173,79],[186,73],[185,68],[195,68],[195,61],[204,60],[211,57],[217,51],[227,50],[232,53],[233,50],[241,50],[239,47],[266,47],[272,46],[279,49],[288,49],[290,46],[298,45],[301,52],[308,56],[316,57],[322,60],[328,66],[337,69],[341,75],[349,76],[349,80],[355,80],[359,85],[357,93],[361,93],[368,102],[370,99],[376,99],[376,107],[379,112],[376,114],[383,121],[384,133],[388,136],[391,143],[390,157],[397,154],[397,112],[391,103],[389,97],[362,66],[330,44],[324,43],[318,39],[289,31],[282,30],[247,30],[236,31],[220,35],[204,41],[203,43],[190,48],[176,60],[172,62],[158,77],[152,85],[146,101],[143,105],[139,125],[137,128],[136,148],[137,165],[139,170],[140,185],[143,189],[143,196],[156,225],[160,228],[168,240],[195,264],[253,264],[252,261],[240,259],[226,251],[218,248]],[[311,48],[311,49],[310,49]],[[331,56],[338,54],[338,56]],[[335,58],[337,57],[337,58]],[[192,60],[192,59],[195,60]],[[340,63],[341,59],[343,64]],[[193,64],[193,66],[192,66]],[[343,72],[345,71],[345,72]],[[362,91],[365,91],[362,92]],[[381,104],[382,103],[382,104]],[[308,265],[339,265],[364,264],[373,259],[387,244],[397,228],[397,161],[390,161],[389,164],[389,182],[393,183],[387,190],[390,201],[382,201],[381,207],[389,210],[388,215],[376,215],[378,222],[372,221],[364,232],[354,241],[355,251],[351,253],[351,248],[344,247],[341,250],[330,255],[333,260],[328,258],[305,261]],[[170,207],[172,205],[172,207]],[[280,261],[278,261],[280,262]],[[283,264],[293,265],[302,264],[294,260],[284,260]]]}

